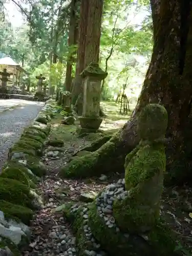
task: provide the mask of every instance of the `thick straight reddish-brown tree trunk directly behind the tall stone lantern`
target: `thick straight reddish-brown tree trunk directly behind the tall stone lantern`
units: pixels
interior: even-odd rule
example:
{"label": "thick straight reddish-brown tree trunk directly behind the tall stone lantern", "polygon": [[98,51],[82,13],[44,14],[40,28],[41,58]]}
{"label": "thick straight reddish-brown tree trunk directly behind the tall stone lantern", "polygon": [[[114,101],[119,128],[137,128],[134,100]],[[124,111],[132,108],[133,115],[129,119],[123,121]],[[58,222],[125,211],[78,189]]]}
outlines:
{"label": "thick straight reddish-brown tree trunk directly behind the tall stone lantern", "polygon": [[72,103],[77,100],[76,111],[82,114],[82,79],[79,74],[90,62],[99,62],[103,0],[82,0],[80,12],[77,67],[72,92]]}

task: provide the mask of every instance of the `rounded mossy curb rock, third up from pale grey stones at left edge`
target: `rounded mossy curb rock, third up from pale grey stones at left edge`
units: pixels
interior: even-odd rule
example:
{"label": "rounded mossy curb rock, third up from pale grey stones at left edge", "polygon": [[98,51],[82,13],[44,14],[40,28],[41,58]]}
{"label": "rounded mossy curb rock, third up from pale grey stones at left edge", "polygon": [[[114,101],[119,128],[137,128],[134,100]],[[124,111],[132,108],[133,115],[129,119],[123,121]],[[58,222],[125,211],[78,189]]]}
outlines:
{"label": "rounded mossy curb rock, third up from pale grey stones at left edge", "polygon": [[30,188],[36,188],[33,180],[34,177],[30,177],[30,174],[25,167],[21,167],[16,164],[9,164],[2,170],[0,174],[1,178],[13,179],[22,182],[23,184],[29,186]]}

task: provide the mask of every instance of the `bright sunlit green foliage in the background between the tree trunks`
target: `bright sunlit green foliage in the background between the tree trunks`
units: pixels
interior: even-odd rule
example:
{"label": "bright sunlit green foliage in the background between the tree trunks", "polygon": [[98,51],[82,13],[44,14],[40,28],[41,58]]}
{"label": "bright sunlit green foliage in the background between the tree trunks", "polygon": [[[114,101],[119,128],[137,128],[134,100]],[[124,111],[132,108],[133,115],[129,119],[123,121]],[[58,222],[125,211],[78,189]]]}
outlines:
{"label": "bright sunlit green foliage in the background between the tree trunks", "polygon": [[[65,81],[66,61],[75,46],[68,47],[70,1],[34,0],[18,2],[27,23],[14,29],[1,16],[0,51],[18,63],[24,56],[24,68],[30,71],[32,84],[42,73],[52,86],[61,87]],[[79,11],[79,10],[78,10]],[[5,15],[6,16],[6,15]],[[100,66],[108,77],[103,98],[113,99],[121,91],[125,73],[129,70],[126,93],[137,97],[152,52],[152,19],[148,0],[105,0],[100,41]],[[53,63],[54,56],[57,63]],[[76,58],[76,56],[74,56]],[[132,66],[132,62],[136,65]],[[62,63],[62,64],[61,64]],[[75,75],[75,67],[72,76]]]}

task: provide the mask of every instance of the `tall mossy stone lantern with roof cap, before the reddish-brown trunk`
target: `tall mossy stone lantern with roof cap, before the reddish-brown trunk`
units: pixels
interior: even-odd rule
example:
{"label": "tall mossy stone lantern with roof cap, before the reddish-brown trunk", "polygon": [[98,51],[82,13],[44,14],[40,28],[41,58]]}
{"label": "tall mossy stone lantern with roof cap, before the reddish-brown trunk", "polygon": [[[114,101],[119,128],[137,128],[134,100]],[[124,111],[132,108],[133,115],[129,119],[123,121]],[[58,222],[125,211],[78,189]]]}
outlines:
{"label": "tall mossy stone lantern with roof cap, before the reddish-brown trunk", "polygon": [[83,131],[96,132],[100,127],[102,122],[102,118],[99,116],[101,81],[107,75],[108,73],[100,69],[96,62],[91,62],[81,73],[83,78],[83,110],[79,120]]}

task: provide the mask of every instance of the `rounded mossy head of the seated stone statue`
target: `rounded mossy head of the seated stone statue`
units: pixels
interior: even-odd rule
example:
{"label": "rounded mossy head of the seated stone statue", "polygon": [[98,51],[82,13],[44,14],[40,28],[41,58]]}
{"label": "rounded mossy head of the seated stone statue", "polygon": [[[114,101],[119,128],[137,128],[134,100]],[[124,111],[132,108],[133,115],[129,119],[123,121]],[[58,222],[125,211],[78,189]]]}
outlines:
{"label": "rounded mossy head of the seated stone statue", "polygon": [[138,135],[142,140],[164,138],[167,129],[168,114],[164,106],[148,104],[138,117]]}

